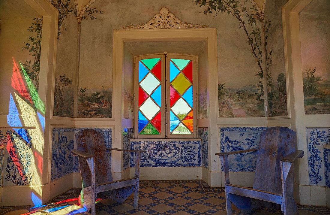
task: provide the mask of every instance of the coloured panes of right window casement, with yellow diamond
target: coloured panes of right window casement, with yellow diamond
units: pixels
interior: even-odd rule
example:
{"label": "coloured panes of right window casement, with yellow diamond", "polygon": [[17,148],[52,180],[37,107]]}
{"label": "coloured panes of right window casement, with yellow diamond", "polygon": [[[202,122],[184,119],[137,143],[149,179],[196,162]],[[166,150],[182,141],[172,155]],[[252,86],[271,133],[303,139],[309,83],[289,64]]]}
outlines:
{"label": "coloured panes of right window casement, with yellow diamond", "polygon": [[170,59],[170,132],[191,134],[193,130],[192,61]]}

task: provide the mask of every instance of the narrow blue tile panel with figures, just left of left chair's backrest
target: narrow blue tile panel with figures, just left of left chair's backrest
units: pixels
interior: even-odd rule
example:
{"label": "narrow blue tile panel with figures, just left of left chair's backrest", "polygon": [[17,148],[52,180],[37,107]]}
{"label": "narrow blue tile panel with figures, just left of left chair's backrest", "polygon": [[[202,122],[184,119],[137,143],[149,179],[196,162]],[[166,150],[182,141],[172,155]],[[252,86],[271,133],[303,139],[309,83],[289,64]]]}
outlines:
{"label": "narrow blue tile panel with figures, just left of left chair's backrest", "polygon": [[74,128],[53,128],[51,144],[51,175],[50,181],[73,172]]}

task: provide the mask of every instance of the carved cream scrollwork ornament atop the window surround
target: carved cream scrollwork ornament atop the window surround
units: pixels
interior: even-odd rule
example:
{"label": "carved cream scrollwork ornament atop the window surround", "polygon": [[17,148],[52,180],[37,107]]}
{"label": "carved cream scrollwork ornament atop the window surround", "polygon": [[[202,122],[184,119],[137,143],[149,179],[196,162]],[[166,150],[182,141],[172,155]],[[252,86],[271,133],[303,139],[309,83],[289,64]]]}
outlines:
{"label": "carved cream scrollwork ornament atop the window surround", "polygon": [[192,23],[183,23],[176,18],[174,14],[169,13],[168,9],[163,7],[149,22],[140,25],[122,26],[121,29],[162,29],[162,28],[206,28],[208,25],[194,25]]}

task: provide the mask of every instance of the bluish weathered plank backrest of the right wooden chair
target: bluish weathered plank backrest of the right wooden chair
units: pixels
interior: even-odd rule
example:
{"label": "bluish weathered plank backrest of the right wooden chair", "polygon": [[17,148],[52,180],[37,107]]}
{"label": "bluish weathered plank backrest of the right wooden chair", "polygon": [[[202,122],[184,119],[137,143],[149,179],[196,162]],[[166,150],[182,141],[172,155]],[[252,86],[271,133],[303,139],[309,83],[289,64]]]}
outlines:
{"label": "bluish weathered plank backrest of the right wooden chair", "polygon": [[[270,127],[260,135],[253,188],[282,193],[280,159],[295,151],[296,132],[286,127]],[[293,171],[288,175],[287,195],[292,197]]]}

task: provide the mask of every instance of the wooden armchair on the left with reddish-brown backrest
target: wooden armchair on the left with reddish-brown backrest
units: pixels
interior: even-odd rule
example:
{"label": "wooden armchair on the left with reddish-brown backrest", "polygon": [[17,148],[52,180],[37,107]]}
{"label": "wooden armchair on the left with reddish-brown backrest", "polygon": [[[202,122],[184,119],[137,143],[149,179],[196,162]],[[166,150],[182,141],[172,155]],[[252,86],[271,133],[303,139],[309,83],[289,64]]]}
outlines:
{"label": "wooden armchair on the left with reddish-brown backrest", "polygon": [[[79,156],[82,191],[78,202],[92,214],[95,214],[95,199],[109,197],[119,203],[124,202],[134,192],[134,209],[138,209],[139,171],[141,153],[146,151],[106,148],[103,135],[93,129],[85,129],[76,134],[77,150],[73,156]],[[106,150],[135,152],[135,175],[133,178],[114,181],[111,174],[111,161]]]}

